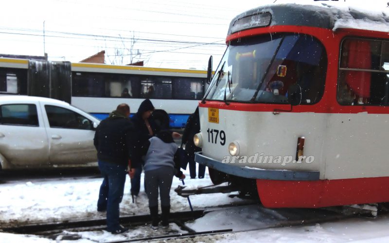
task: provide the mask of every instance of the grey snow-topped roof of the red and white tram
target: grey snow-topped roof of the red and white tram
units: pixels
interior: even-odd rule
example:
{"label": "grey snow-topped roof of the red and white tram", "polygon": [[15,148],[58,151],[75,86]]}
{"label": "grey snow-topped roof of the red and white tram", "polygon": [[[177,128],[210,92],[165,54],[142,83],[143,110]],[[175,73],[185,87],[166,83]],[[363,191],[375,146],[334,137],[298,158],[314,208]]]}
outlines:
{"label": "grey snow-topped roof of the red and white tram", "polygon": [[[264,17],[251,17],[258,13],[270,13],[271,21],[266,24]],[[248,21],[241,21],[250,17]],[[239,23],[240,22],[240,23]],[[319,28],[337,29],[362,29],[379,32],[389,32],[389,8],[385,6],[359,6],[346,2],[322,2],[299,0],[296,3],[278,3],[260,6],[248,10],[237,17],[231,23],[228,35],[254,28],[256,26],[275,25],[301,25]]]}

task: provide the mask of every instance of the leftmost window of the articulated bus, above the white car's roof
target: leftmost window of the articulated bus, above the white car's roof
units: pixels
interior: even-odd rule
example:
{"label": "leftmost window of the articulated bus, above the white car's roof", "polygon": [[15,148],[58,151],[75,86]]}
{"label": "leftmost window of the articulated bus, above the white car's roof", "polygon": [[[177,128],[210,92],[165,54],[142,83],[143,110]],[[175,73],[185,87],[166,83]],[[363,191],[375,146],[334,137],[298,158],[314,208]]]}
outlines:
{"label": "leftmost window of the articulated bus, above the white car's roof", "polygon": [[27,69],[0,68],[0,93],[27,94]]}

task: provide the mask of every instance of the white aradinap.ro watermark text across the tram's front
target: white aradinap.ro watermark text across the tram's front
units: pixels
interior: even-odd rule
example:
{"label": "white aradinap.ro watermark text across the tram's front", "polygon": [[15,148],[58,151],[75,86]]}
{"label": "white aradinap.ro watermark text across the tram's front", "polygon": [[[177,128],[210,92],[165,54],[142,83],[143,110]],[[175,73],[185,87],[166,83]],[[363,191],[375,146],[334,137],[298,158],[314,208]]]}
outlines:
{"label": "white aradinap.ro watermark text across the tram's front", "polygon": [[264,156],[264,153],[255,153],[252,156],[224,156],[222,163],[225,164],[281,164],[285,166],[289,163],[310,164],[315,160],[314,156],[299,156],[299,159],[293,159],[293,156]]}

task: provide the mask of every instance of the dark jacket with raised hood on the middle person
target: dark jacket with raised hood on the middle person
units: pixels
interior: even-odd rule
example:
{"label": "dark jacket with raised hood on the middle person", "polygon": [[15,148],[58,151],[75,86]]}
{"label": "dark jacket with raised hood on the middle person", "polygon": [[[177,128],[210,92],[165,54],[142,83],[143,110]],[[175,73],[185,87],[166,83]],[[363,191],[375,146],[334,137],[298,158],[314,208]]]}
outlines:
{"label": "dark jacket with raised hood on the middle person", "polygon": [[[138,164],[143,163],[143,160],[141,159],[141,157],[144,155],[141,153],[141,151],[143,151],[142,146],[148,141],[148,139],[153,137],[149,134],[149,130],[146,126],[146,123],[142,118],[143,112],[148,110],[154,110],[154,105],[149,99],[145,99],[139,106],[138,112],[135,113],[135,115],[131,118],[136,133],[136,151],[134,152],[133,157],[131,158],[131,163],[133,161],[136,161],[136,163]],[[151,116],[147,120],[149,121],[151,129],[153,130],[153,135],[156,135],[159,132],[159,127],[157,123],[151,118]]]}

